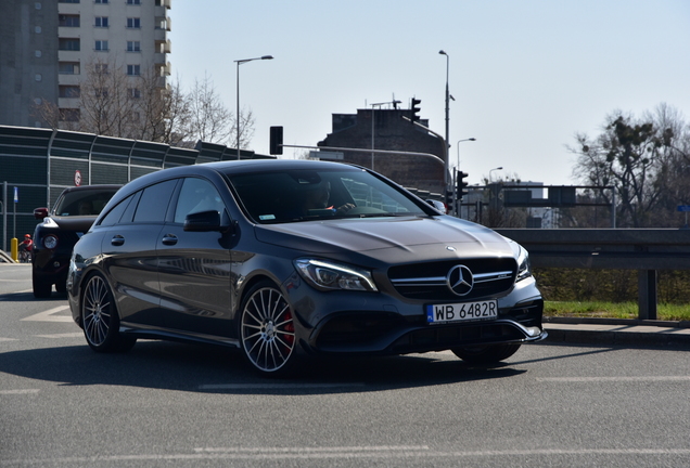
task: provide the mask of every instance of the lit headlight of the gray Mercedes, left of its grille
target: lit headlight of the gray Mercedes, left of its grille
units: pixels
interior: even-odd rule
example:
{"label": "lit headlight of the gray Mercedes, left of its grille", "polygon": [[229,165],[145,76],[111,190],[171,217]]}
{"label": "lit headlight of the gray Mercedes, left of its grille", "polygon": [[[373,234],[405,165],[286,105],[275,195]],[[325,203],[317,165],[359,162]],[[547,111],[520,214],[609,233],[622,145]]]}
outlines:
{"label": "lit headlight of the gray Mercedes, left of its grille", "polygon": [[371,273],[367,270],[343,263],[305,258],[295,260],[294,264],[299,275],[317,289],[379,290]]}

